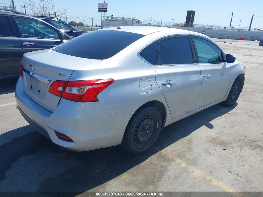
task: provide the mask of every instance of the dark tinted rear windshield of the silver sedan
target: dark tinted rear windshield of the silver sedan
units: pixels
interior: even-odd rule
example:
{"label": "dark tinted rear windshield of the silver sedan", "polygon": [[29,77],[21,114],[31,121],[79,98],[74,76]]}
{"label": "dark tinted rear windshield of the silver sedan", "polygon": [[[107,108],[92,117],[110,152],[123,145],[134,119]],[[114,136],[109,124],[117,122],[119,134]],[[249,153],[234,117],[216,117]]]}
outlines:
{"label": "dark tinted rear windshield of the silver sedan", "polygon": [[58,46],[54,51],[87,59],[108,59],[144,35],[125,31],[96,30]]}

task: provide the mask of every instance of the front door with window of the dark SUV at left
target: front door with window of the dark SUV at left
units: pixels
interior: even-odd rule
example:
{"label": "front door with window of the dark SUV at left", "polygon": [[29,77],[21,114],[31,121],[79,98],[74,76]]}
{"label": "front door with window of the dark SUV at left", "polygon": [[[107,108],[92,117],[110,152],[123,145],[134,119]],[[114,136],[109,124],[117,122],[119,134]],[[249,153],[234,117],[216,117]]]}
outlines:
{"label": "front door with window of the dark SUV at left", "polygon": [[13,21],[20,34],[24,53],[50,49],[63,42],[59,39],[58,30],[42,21],[22,16],[14,16]]}

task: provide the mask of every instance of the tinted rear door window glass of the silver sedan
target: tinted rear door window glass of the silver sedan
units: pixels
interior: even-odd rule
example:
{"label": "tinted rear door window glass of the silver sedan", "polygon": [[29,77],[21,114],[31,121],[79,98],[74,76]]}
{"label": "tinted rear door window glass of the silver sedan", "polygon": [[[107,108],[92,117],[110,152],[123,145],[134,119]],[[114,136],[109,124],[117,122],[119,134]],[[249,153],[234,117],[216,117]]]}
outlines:
{"label": "tinted rear door window glass of the silver sedan", "polygon": [[161,40],[157,64],[194,63],[188,37],[173,37]]}

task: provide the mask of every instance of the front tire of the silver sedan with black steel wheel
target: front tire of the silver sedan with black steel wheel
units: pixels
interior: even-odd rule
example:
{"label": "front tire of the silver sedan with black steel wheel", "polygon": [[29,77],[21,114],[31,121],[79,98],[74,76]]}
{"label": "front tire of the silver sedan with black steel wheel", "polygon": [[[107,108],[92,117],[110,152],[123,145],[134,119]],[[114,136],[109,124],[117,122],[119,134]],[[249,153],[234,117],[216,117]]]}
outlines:
{"label": "front tire of the silver sedan with black steel wheel", "polygon": [[242,82],[241,82],[241,79],[238,77],[234,81],[234,83],[233,83],[233,85],[232,85],[232,87],[231,87],[231,89],[229,91],[227,100],[225,100],[223,102],[223,104],[225,106],[232,106],[232,105],[234,105],[237,102],[237,99],[238,99],[241,91],[242,91]]}

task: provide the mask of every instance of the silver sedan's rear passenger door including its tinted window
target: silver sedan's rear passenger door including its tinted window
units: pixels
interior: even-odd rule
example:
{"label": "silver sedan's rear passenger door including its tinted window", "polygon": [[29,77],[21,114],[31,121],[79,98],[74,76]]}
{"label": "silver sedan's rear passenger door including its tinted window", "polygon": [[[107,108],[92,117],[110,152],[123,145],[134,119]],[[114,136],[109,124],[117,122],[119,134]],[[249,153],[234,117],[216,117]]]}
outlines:
{"label": "silver sedan's rear passenger door including its tinted window", "polygon": [[166,37],[159,42],[156,82],[172,119],[194,111],[200,94],[200,68],[192,50],[194,47],[188,35]]}

